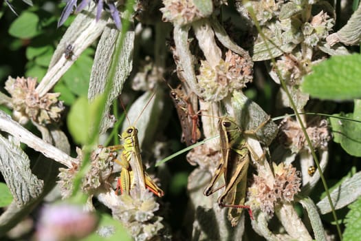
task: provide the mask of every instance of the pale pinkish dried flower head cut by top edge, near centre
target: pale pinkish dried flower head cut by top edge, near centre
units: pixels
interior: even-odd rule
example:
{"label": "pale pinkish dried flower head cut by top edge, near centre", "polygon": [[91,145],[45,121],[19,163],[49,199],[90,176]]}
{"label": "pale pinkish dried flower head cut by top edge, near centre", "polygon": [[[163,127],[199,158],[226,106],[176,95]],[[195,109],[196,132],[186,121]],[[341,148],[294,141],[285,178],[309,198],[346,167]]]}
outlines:
{"label": "pale pinkish dried flower head cut by top edge, near centre", "polygon": [[162,20],[164,22],[185,25],[204,17],[193,0],[163,0],[163,4],[164,8],[161,8],[160,11],[163,13]]}

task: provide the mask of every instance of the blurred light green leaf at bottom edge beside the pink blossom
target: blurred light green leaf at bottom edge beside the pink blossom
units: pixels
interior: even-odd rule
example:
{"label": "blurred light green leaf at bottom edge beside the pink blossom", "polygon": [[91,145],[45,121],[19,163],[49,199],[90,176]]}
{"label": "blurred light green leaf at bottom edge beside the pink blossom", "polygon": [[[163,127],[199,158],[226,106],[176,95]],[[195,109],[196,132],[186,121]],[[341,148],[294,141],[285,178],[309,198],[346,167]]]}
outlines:
{"label": "blurred light green leaf at bottom edge beside the pink blossom", "polygon": [[87,238],[83,239],[83,241],[97,240],[131,241],[133,239],[128,234],[127,229],[124,229],[124,227],[122,227],[119,221],[114,220],[109,214],[104,213],[100,217],[98,230],[93,234],[89,235]]}

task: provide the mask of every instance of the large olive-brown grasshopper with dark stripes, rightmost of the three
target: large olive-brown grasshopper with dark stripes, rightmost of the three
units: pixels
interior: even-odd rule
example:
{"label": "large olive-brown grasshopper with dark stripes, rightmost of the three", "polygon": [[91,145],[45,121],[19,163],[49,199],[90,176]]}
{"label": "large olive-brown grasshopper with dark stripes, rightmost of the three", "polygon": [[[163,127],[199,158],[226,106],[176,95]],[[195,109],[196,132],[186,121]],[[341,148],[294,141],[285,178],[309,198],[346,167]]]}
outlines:
{"label": "large olive-brown grasshopper with dark stripes, rightmost of the three", "polygon": [[219,121],[222,158],[215,171],[215,175],[204,190],[204,195],[210,196],[223,187],[213,188],[223,174],[224,187],[226,188],[221,193],[221,196],[219,196],[217,202],[220,207],[231,208],[228,211],[228,220],[230,220],[232,227],[237,225],[242,209],[248,209],[248,213],[251,219],[253,219],[252,210],[249,206],[244,205],[247,172],[250,164],[249,152],[252,152],[252,150],[248,147],[243,135],[258,132],[267,121],[261,123],[255,130],[248,131],[242,131],[239,125],[230,117],[223,117]]}

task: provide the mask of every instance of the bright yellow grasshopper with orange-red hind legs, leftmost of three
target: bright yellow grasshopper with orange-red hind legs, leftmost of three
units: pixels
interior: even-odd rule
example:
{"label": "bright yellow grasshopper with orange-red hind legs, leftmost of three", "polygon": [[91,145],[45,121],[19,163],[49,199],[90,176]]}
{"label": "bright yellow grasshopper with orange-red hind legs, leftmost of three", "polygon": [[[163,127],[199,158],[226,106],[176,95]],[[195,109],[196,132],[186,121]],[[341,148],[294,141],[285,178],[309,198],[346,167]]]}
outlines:
{"label": "bright yellow grasshopper with orange-red hind legs, leftmost of three", "polygon": [[[151,96],[149,101],[151,101],[152,98],[153,96]],[[148,104],[149,102],[146,103],[146,105]],[[140,156],[138,129],[130,126],[119,135],[119,137],[123,145],[116,145],[109,148],[113,151],[122,150],[120,160],[116,159],[116,162],[122,167],[120,178],[118,178],[118,188],[120,188],[120,192],[129,194],[130,189],[136,186],[140,189],[140,192],[144,189],[149,189],[158,197],[164,196],[164,191],[162,191],[151,179],[149,174],[144,171],[142,156]]]}

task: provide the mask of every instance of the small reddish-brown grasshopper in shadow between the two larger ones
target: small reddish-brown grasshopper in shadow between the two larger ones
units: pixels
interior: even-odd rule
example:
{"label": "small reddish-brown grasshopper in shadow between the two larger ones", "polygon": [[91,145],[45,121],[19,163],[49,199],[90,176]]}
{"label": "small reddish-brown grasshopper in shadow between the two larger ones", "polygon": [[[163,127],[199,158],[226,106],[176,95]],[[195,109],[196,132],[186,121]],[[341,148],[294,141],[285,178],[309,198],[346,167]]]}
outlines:
{"label": "small reddish-brown grasshopper in shadow between the two larger ones", "polygon": [[185,97],[180,87],[176,89],[173,89],[171,86],[169,87],[171,88],[170,95],[182,126],[182,142],[185,142],[187,146],[193,145],[201,138],[201,132],[198,128],[198,115],[195,114],[192,104],[188,101],[188,97]]}

